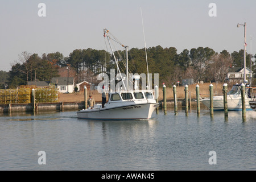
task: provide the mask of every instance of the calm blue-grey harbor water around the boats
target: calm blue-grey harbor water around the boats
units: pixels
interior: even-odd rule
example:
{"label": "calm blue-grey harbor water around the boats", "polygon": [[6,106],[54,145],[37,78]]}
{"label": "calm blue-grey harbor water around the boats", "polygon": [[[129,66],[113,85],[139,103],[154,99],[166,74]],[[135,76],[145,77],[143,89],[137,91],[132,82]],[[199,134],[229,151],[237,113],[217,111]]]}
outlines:
{"label": "calm blue-grey harbor water around the boats", "polygon": [[[39,151],[46,164],[39,165]],[[216,164],[210,165],[210,151]],[[159,111],[92,121],[76,111],[0,116],[0,170],[256,170],[256,112]]]}

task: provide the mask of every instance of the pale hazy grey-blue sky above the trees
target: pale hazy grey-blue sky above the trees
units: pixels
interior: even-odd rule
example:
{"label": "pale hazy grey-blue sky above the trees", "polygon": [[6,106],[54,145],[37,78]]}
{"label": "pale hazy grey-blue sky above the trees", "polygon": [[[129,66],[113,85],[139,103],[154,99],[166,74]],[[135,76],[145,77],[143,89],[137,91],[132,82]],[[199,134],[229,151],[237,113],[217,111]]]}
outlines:
{"label": "pale hazy grey-blue sky above the trees", "polygon": [[[38,16],[41,2],[46,4],[46,17]],[[217,6],[216,17],[208,15],[210,3]],[[0,5],[3,71],[10,71],[22,51],[68,56],[74,49],[106,49],[104,28],[126,46],[143,48],[141,9],[147,47],[175,47],[177,53],[200,46],[239,51],[243,27],[236,26],[246,22],[247,52],[251,46],[256,53],[255,0],[0,0]]]}

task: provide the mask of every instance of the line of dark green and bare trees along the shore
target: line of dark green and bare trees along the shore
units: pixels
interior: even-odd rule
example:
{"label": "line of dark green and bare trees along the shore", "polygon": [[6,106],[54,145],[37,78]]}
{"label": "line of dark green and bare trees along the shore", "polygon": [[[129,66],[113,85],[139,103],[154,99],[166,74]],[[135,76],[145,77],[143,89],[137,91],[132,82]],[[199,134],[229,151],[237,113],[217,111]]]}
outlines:
{"label": "line of dark green and bare trees along the shore", "polygon": [[[125,51],[115,51],[115,56],[125,73]],[[256,55],[246,53],[248,68],[252,57],[256,58]],[[129,49],[128,59],[131,73],[147,73],[144,48]],[[184,78],[193,78],[195,82],[224,82],[230,67],[242,67],[243,49],[218,53],[209,47],[198,47],[184,49],[178,54],[175,47],[156,46],[147,48],[147,60],[149,72],[159,73],[159,82],[165,82],[166,85],[171,86]],[[70,65],[69,76],[75,77],[76,83],[84,80],[97,82],[97,75],[102,72],[110,74],[110,69],[117,72],[113,55],[105,50],[75,49],[67,57],[60,52],[39,56],[24,51],[18,55],[18,60],[11,65],[9,72],[0,72],[1,88],[16,88],[34,80],[51,81],[52,77],[67,77],[67,65]],[[252,70],[256,73],[254,62]]]}

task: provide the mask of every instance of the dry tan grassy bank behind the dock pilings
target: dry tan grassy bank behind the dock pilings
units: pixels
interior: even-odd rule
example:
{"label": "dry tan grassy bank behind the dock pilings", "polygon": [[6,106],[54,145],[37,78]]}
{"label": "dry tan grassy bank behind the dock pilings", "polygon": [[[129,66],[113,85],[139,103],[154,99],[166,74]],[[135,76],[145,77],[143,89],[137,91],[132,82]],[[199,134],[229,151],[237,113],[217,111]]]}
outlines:
{"label": "dry tan grassy bank behind the dock pilings", "polygon": [[[191,92],[191,97],[196,98],[196,85],[189,85],[188,91]],[[200,86],[200,95],[201,97],[209,97],[209,85],[210,83],[204,83],[199,84]],[[222,86],[221,84],[215,84],[213,83],[213,91],[214,94],[222,94]],[[228,89],[230,90],[232,88],[232,84],[228,86]],[[97,90],[89,91],[88,96],[91,94],[96,102],[101,102],[101,94],[98,93]],[[184,98],[184,86],[177,86],[177,98]],[[89,98],[89,97],[88,97]],[[167,87],[167,99],[174,98],[174,94],[172,91],[172,88]],[[159,88],[159,100],[163,100],[163,91],[162,88]],[[59,101],[60,102],[81,102],[84,101],[84,92],[77,92],[77,93],[70,93],[70,94],[59,94]]]}

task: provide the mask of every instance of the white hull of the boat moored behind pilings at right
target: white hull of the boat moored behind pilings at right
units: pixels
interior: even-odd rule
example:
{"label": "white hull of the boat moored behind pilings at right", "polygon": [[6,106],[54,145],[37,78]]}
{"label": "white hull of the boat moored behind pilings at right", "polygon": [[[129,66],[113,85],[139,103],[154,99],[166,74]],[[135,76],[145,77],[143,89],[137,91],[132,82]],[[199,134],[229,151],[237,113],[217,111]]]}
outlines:
{"label": "white hull of the boat moored behind pilings at right", "polygon": [[[210,108],[210,100],[204,99],[200,100],[205,106]],[[245,108],[246,110],[251,110],[249,105],[250,99],[246,98]],[[224,110],[224,100],[223,98],[213,99],[213,110]],[[242,110],[242,100],[240,98],[228,98],[228,110]]]}

